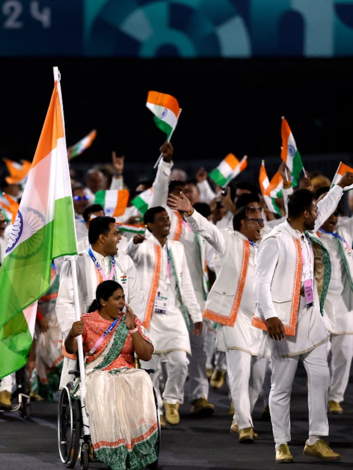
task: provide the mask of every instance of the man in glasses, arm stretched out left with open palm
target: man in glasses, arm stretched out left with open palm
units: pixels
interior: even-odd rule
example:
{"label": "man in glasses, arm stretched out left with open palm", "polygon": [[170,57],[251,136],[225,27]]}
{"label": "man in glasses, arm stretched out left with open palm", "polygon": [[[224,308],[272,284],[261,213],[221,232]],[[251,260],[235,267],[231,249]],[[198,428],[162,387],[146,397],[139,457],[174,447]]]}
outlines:
{"label": "man in glasses, arm stretched out left with open palm", "polygon": [[234,405],[230,432],[239,434],[240,443],[252,443],[252,409],[261,390],[265,370],[259,367],[258,353],[264,338],[252,327],[255,299],[257,243],[264,221],[256,207],[242,207],[233,216],[233,231],[219,230],[195,211],[188,198],[170,194],[169,206],[184,211],[193,230],[205,238],[217,253],[217,278],[206,300],[203,317],[219,324],[217,344],[224,345],[227,374]]}

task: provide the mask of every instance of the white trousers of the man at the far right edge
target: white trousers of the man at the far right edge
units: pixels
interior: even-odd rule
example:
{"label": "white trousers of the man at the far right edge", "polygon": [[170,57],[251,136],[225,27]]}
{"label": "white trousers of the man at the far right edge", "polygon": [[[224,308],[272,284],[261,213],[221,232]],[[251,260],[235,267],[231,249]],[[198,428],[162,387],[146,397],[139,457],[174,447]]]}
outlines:
{"label": "white trousers of the man at the far right edge", "polygon": [[330,373],[328,400],[343,401],[351,371],[353,334],[331,334]]}

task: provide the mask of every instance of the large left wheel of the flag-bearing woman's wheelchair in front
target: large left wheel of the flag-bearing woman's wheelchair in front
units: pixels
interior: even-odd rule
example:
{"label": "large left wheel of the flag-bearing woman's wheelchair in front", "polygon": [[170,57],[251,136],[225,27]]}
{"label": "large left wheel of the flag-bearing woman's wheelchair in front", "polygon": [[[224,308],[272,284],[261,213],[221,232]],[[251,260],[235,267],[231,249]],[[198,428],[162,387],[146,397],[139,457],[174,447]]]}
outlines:
{"label": "large left wheel of the flag-bearing woman's wheelchair in front", "polygon": [[58,406],[58,448],[67,468],[75,467],[81,436],[81,414],[77,400],[71,398],[72,384],[64,387]]}

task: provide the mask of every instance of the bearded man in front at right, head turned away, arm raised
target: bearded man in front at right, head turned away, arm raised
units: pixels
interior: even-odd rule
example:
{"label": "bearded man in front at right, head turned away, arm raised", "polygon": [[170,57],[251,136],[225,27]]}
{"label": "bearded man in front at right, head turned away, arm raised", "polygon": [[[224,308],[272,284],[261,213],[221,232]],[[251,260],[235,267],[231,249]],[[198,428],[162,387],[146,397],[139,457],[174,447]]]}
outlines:
{"label": "bearded man in front at right, head turned away, arm raised", "polygon": [[[328,333],[322,321],[331,265],[315,232],[337,207],[343,188],[353,183],[346,172],[316,205],[314,194],[299,189],[289,198],[288,218],[260,244],[252,324],[267,330],[272,350],[269,398],[276,462],[293,462],[288,442],[290,396],[301,358],[308,377],[309,438],[304,455],[339,460],[321,436],[328,436]],[[315,261],[315,262],[314,262]]]}

